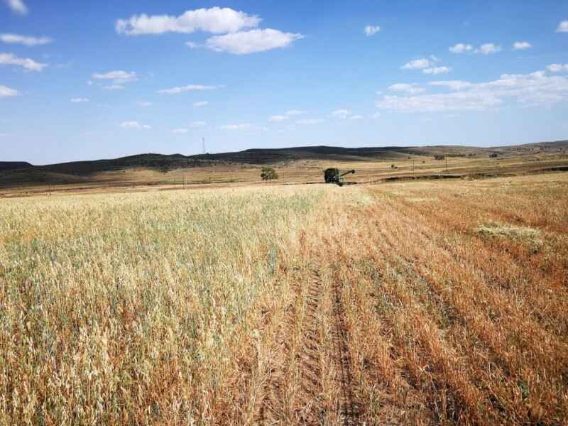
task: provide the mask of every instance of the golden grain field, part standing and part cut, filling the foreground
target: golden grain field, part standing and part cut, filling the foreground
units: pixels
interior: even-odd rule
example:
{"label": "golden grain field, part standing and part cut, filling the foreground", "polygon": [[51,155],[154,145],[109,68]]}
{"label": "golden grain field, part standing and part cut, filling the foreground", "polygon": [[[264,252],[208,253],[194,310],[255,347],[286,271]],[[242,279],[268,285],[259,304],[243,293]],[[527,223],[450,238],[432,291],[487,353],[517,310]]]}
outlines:
{"label": "golden grain field, part standing and part cut, filling the foreground", "polygon": [[565,425],[568,173],[0,202],[0,424]]}

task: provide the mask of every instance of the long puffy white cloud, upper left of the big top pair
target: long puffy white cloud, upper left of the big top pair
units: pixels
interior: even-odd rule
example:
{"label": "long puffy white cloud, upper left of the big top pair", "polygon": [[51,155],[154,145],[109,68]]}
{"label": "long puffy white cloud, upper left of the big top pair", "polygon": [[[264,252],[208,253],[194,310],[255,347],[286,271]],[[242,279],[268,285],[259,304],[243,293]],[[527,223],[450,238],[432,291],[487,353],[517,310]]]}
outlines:
{"label": "long puffy white cloud, upper left of the big top pair", "polygon": [[133,15],[129,19],[116,21],[117,33],[127,35],[162,34],[162,33],[235,33],[243,28],[258,26],[261,21],[256,15],[248,15],[230,8],[212,7],[185,11],[180,16],[154,15],[145,13]]}

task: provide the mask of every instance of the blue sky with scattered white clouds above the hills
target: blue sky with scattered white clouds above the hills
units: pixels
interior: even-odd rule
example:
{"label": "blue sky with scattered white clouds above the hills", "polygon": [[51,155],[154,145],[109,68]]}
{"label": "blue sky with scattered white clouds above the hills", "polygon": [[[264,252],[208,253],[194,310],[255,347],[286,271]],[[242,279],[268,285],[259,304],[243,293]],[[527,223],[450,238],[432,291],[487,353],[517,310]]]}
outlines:
{"label": "blue sky with scattered white clouds above the hills", "polygon": [[568,138],[568,1],[0,0],[0,160]]}

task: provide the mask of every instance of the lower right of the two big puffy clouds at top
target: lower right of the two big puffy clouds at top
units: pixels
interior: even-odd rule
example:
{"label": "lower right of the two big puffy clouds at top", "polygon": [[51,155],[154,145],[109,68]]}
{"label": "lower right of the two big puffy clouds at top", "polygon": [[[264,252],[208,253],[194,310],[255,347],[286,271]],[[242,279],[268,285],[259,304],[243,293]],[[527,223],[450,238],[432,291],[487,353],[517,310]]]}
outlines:
{"label": "lower right of the two big puffy clouds at top", "polygon": [[295,40],[304,38],[302,34],[283,33],[266,28],[264,30],[240,31],[225,35],[215,35],[205,42],[207,48],[216,52],[229,52],[234,55],[265,52],[266,50],[285,48]]}

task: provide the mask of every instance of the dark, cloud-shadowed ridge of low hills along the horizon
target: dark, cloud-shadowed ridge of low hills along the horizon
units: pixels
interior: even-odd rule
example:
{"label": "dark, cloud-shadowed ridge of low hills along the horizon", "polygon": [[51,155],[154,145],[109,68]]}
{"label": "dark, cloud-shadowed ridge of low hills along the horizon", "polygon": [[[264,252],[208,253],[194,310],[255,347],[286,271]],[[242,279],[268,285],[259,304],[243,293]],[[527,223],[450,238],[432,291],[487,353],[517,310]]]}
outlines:
{"label": "dark, cloud-shadowed ridge of low hills along the horizon", "polygon": [[286,165],[302,160],[330,162],[353,162],[371,160],[400,160],[413,155],[453,157],[476,155],[519,155],[567,151],[568,141],[528,143],[517,146],[479,148],[473,146],[387,146],[370,148],[342,148],[335,146],[302,146],[295,148],[248,149],[246,151],[182,155],[146,153],[128,157],[73,161],[34,166],[25,162],[0,162],[0,187],[21,184],[89,182],[91,176],[117,170],[149,169],[168,172],[183,168],[198,168],[209,165]]}

